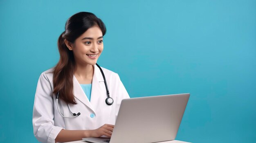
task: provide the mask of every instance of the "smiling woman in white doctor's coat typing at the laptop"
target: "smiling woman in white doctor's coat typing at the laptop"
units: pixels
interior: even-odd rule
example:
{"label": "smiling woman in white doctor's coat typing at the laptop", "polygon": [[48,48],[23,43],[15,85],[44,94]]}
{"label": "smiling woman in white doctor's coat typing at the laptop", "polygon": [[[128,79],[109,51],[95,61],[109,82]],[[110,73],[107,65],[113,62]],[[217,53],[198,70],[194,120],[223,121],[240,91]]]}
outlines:
{"label": "smiling woman in white doctor's coat typing at the laptop", "polygon": [[93,13],[76,13],[67,20],[58,38],[60,60],[40,75],[36,88],[33,128],[38,141],[111,137],[121,100],[129,95],[117,73],[102,68],[112,98],[107,100],[96,65],[105,33],[105,24]]}

